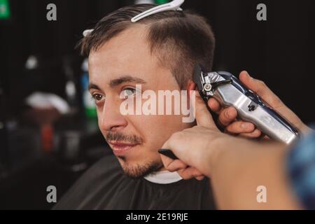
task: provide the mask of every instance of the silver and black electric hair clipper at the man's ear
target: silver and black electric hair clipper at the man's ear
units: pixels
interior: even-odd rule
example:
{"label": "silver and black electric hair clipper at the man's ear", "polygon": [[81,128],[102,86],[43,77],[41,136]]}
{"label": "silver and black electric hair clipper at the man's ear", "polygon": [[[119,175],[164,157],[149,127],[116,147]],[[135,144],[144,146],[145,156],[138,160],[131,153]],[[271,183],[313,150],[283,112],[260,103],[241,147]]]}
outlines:
{"label": "silver and black electric hair clipper at the man's ear", "polygon": [[214,97],[223,107],[235,107],[240,120],[253,123],[268,137],[286,144],[298,138],[299,133],[293,125],[266,106],[258,95],[248,90],[231,73],[206,72],[202,66],[197,65],[193,80],[205,102]]}

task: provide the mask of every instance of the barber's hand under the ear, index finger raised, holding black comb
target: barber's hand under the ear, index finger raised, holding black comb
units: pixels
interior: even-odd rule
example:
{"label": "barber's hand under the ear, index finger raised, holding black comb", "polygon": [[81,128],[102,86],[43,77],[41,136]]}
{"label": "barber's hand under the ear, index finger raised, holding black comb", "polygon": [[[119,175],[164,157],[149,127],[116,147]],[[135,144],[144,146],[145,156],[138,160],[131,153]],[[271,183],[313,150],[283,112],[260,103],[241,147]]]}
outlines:
{"label": "barber's hand under the ear, index finger raised, holding black comb", "polygon": [[161,158],[165,168],[170,172],[177,171],[183,179],[201,180],[204,178],[203,175],[210,175],[209,158],[215,158],[216,154],[214,143],[218,139],[232,137],[218,130],[198,92],[195,111],[197,126],[172,134],[162,146],[172,150],[179,160],[172,160],[165,155],[161,155]]}

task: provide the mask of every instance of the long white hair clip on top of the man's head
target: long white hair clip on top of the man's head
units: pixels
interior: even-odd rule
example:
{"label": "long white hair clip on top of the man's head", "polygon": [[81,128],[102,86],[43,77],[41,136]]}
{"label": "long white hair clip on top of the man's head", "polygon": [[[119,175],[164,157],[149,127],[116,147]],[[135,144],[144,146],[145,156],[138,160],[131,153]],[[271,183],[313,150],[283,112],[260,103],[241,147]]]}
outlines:
{"label": "long white hair clip on top of the man's head", "polygon": [[160,6],[155,6],[154,8],[150,8],[149,10],[146,10],[143,13],[136,15],[134,18],[131,19],[131,21],[137,22],[143,18],[146,18],[149,15],[153,15],[155,13],[160,13],[167,10],[183,10],[180,8],[180,6],[184,1],[185,0],[174,0],[169,3],[162,4]]}

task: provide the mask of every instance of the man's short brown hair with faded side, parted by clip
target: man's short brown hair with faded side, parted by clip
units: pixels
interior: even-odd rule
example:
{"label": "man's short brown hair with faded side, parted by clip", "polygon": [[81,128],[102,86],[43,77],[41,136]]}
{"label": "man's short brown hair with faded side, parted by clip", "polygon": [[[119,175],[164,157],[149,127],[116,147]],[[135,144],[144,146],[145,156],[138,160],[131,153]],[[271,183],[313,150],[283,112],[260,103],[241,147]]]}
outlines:
{"label": "man's short brown hair with faded side, parted by clip", "polygon": [[202,64],[211,71],[214,59],[214,33],[207,20],[190,10],[168,10],[149,15],[135,23],[131,19],[153,4],[126,6],[106,15],[97,22],[92,33],[80,41],[80,50],[88,56],[106,41],[134,25],[146,25],[147,39],[162,66],[172,71],[181,89],[192,78],[193,66]]}

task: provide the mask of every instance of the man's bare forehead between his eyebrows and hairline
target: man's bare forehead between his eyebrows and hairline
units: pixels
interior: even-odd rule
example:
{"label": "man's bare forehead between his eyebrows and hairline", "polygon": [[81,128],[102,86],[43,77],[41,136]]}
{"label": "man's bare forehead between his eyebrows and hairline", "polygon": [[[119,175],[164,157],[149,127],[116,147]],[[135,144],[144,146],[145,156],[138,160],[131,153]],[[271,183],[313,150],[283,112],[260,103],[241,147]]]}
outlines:
{"label": "man's bare forehead between his eyebrows and hairline", "polygon": [[143,25],[126,29],[89,56],[90,77],[106,80],[118,76],[146,78],[157,70],[158,59],[151,55]]}

